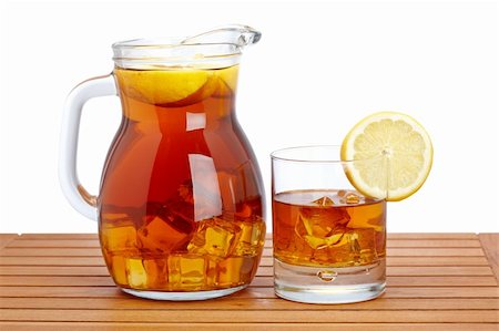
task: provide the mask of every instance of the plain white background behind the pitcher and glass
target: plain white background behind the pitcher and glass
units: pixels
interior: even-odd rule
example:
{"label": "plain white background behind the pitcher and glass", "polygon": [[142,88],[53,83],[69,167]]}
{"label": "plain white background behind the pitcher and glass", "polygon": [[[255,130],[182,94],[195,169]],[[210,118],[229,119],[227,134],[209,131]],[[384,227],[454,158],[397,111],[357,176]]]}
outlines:
{"label": "plain white background behind the pitcher and glass", "polygon": [[[499,231],[498,20],[497,1],[2,1],[0,231],[96,231],[59,187],[65,95],[111,72],[114,41],[224,23],[263,32],[243,56],[237,116],[267,199],[272,151],[338,144],[369,113],[399,111],[428,130],[435,161],[417,194],[389,204],[388,230]],[[119,121],[118,97],[84,108],[92,193]]]}

